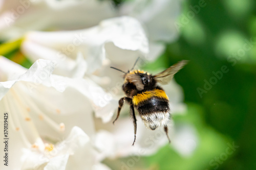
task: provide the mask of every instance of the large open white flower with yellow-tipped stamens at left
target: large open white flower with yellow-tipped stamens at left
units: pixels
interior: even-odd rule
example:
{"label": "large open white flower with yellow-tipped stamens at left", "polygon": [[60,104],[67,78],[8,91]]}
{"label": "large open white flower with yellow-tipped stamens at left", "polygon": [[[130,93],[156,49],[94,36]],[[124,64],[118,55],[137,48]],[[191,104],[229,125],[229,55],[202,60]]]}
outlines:
{"label": "large open white flower with yellow-tipped stamens at left", "polygon": [[[26,69],[0,57],[0,113],[1,116],[4,113],[9,115],[9,160],[15,160],[8,165],[11,169],[27,166],[24,164],[27,159],[20,159],[23,148],[38,148],[42,153],[48,147],[45,141],[60,141],[74,126],[82,128],[89,137],[95,135],[93,108],[89,100],[93,95],[83,89],[86,85],[90,88],[90,82],[52,75],[53,69],[53,62],[47,60],[37,60]],[[81,88],[76,83],[84,87]],[[1,117],[2,121],[3,118]],[[1,138],[4,138],[3,133]],[[84,145],[87,145],[88,137],[84,138]],[[70,144],[72,149],[72,142]],[[3,142],[1,147],[3,148]],[[70,150],[70,147],[66,147],[65,152],[66,150]],[[69,151],[69,154],[72,155],[72,152]],[[91,158],[90,154],[88,157]],[[73,158],[65,154],[57,155],[49,160],[49,166],[52,166],[52,161],[57,160],[67,161],[68,166]],[[80,163],[78,166],[81,165]]]}

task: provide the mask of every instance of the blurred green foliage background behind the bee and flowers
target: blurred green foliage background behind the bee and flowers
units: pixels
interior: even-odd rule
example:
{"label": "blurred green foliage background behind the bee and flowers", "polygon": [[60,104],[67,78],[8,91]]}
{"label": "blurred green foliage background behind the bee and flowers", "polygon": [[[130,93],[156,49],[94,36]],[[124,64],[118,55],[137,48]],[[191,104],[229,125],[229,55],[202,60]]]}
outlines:
{"label": "blurred green foliage background behind the bee and flowers", "polygon": [[[118,8],[122,1],[114,3]],[[256,2],[183,1],[176,26],[179,39],[166,44],[164,54],[144,69],[167,68],[182,59],[190,60],[175,77],[183,87],[188,110],[173,118],[175,124],[195,126],[199,144],[188,157],[166,145],[155,155],[140,158],[131,169],[256,169]],[[15,46],[20,41],[14,43],[5,56],[15,61],[20,55]],[[4,49],[2,45],[2,54]],[[31,65],[22,60],[16,62]],[[239,148],[229,154],[228,143]],[[104,163],[120,169],[120,163],[129,159]]]}

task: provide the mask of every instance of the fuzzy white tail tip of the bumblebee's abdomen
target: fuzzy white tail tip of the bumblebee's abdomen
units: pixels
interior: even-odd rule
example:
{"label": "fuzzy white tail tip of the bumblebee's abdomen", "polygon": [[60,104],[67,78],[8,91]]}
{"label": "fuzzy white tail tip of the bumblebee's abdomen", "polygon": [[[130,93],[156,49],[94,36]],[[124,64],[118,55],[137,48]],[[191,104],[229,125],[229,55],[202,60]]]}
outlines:
{"label": "fuzzy white tail tip of the bumblebee's abdomen", "polygon": [[155,130],[159,126],[167,126],[170,119],[169,112],[156,112],[141,115],[142,121],[146,128]]}

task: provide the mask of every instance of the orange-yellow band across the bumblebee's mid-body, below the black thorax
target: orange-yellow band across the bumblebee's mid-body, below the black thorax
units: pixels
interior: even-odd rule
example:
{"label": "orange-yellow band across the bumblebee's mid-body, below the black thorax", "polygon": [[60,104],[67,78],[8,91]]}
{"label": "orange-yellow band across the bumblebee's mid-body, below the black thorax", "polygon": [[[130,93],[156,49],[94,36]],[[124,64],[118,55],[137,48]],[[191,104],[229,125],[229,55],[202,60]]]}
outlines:
{"label": "orange-yellow band across the bumblebee's mid-body, below the black thorax", "polygon": [[133,104],[138,105],[139,103],[144,102],[154,96],[157,96],[158,98],[169,100],[168,96],[166,95],[166,93],[163,90],[154,89],[152,91],[145,91],[140,94],[134,95],[133,96]]}

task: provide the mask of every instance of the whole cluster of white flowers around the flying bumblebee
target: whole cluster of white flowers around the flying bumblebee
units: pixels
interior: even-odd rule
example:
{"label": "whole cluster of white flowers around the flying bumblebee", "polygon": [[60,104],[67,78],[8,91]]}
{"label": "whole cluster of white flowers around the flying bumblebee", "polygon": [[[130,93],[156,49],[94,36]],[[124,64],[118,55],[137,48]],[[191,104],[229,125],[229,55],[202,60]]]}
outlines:
{"label": "whole cluster of white flowers around the flying bumblebee", "polygon": [[[139,56],[154,61],[163,42],[178,37],[179,12],[175,0],[118,9],[97,0],[1,0],[0,39],[22,37],[20,50],[33,65],[0,56],[0,125],[8,113],[10,138],[8,168],[0,169],[110,169],[105,158],[152,154],[168,142],[162,129],[138,122],[132,147],[129,117],[111,123],[123,94],[120,72],[110,66],[129,69]],[[181,88],[171,82],[166,91],[172,111],[184,110]]]}

